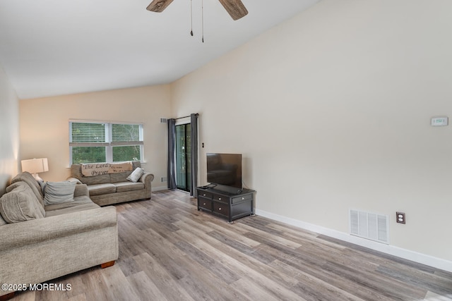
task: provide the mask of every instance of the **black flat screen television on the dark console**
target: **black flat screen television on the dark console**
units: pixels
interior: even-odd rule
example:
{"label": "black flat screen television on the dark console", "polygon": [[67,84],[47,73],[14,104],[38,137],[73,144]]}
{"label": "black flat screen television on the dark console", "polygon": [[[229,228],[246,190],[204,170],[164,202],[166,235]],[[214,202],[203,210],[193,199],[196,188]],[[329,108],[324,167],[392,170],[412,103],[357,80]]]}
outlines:
{"label": "black flat screen television on the dark console", "polygon": [[242,154],[207,154],[207,181],[242,190]]}

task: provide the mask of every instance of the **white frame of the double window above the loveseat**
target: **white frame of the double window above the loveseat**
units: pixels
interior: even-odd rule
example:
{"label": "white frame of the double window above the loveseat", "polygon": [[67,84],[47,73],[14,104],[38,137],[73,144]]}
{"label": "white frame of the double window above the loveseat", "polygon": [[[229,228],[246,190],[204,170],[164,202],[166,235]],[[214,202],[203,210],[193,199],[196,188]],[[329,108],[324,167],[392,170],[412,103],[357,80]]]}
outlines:
{"label": "white frame of the double window above the loveseat", "polygon": [[[72,123],[98,123],[104,124],[105,130],[105,142],[72,142]],[[117,125],[138,125],[138,141],[127,141],[127,142],[113,142],[112,128],[114,124]],[[89,121],[89,120],[69,120],[69,165],[73,164],[72,157],[72,147],[105,147],[105,162],[113,163],[113,147],[122,146],[139,146],[140,147],[140,158],[138,161],[143,162],[144,154],[144,124],[136,122],[124,122],[124,121]]]}

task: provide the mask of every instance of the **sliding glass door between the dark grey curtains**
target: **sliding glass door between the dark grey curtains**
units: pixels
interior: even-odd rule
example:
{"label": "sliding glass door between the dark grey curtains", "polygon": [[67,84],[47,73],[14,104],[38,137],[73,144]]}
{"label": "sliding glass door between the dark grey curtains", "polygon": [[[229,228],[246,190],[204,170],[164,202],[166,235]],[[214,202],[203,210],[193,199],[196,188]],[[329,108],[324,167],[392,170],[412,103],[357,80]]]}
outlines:
{"label": "sliding glass door between the dark grey curtains", "polygon": [[176,125],[176,186],[190,191],[191,186],[191,124]]}

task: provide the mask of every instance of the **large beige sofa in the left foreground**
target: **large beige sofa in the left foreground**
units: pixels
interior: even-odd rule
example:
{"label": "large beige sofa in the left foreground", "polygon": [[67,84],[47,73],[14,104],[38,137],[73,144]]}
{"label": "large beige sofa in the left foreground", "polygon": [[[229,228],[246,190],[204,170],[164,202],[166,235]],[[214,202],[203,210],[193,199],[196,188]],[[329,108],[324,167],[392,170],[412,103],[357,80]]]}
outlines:
{"label": "large beige sofa in the left foreground", "polygon": [[[75,185],[69,202],[44,205],[39,183],[23,172],[0,198],[0,283],[37,284],[110,266],[118,251],[116,208],[94,204],[86,185]],[[4,300],[23,290],[3,288]]]}

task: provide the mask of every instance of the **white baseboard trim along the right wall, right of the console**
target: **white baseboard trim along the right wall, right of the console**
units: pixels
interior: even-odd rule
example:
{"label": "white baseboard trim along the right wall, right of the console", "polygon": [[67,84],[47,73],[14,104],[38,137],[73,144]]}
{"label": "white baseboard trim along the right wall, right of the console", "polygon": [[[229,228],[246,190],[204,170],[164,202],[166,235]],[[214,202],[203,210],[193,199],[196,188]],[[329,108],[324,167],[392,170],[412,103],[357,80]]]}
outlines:
{"label": "white baseboard trim along the right wall, right of the console", "polygon": [[255,213],[256,213],[256,215],[260,215],[260,216],[266,217],[268,219],[273,219],[275,221],[287,223],[291,226],[295,226],[295,227],[306,229],[306,230],[309,230],[309,231],[312,231],[315,233],[327,235],[332,238],[337,238],[338,240],[343,240],[345,242],[351,242],[355,245],[359,245],[362,247],[368,247],[371,250],[383,252],[385,254],[390,254],[390,255],[400,257],[403,259],[408,259],[408,260],[411,260],[412,262],[425,264],[427,266],[433,266],[436,269],[442,269],[444,271],[452,272],[452,262],[450,262],[446,259],[441,259],[441,258],[433,257],[433,256],[430,256],[427,254],[414,252],[411,250],[403,249],[401,247],[395,247],[393,245],[385,245],[380,242],[374,242],[372,240],[367,240],[365,238],[359,238],[357,236],[353,236],[348,233],[335,231],[330,228],[317,226],[312,223],[299,221],[297,219],[291,219],[286,216],[280,216],[278,214],[273,214],[268,211],[263,211],[260,209],[255,209]]}

